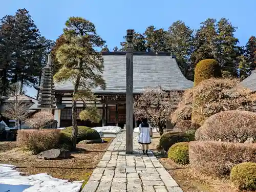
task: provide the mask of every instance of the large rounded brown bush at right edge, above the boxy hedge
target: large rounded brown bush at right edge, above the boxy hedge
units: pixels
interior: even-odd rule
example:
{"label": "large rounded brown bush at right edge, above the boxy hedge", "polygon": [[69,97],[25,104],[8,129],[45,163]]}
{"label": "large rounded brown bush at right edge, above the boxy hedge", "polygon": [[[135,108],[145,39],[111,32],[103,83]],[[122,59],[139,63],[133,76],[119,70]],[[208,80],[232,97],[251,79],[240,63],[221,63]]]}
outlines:
{"label": "large rounded brown bush at right edge, above the boxy hedge", "polygon": [[225,111],[212,115],[197,130],[196,140],[244,143],[256,140],[256,113]]}

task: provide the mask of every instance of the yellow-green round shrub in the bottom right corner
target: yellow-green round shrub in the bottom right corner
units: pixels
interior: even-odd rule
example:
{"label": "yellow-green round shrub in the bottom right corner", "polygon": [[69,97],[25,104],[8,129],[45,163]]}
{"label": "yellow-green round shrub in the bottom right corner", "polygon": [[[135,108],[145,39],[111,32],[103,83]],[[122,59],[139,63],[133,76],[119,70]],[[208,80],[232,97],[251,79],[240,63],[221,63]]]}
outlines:
{"label": "yellow-green round shrub in the bottom right corner", "polygon": [[230,180],[239,189],[256,189],[256,163],[244,162],[231,169]]}

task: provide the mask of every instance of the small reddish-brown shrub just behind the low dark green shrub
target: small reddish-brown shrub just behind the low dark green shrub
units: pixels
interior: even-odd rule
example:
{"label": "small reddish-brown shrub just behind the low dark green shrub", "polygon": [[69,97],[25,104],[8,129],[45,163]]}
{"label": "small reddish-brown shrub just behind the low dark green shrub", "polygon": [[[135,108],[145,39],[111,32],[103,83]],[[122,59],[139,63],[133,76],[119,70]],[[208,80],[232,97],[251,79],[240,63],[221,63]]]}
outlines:
{"label": "small reddish-brown shrub just behind the low dark green shrub", "polygon": [[196,130],[200,127],[199,124],[194,123],[190,120],[179,121],[174,126],[174,131],[182,132],[182,133],[191,133],[196,132]]}

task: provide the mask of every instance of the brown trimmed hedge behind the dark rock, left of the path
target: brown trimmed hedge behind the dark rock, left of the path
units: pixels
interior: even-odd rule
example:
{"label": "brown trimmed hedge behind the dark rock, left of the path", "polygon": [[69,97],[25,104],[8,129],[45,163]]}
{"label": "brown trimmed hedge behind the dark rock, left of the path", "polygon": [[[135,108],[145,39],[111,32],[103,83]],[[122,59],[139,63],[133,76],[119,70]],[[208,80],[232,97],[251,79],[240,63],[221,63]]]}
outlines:
{"label": "brown trimmed hedge behind the dark rock, left of the path", "polygon": [[18,130],[17,145],[34,154],[57,147],[60,130]]}

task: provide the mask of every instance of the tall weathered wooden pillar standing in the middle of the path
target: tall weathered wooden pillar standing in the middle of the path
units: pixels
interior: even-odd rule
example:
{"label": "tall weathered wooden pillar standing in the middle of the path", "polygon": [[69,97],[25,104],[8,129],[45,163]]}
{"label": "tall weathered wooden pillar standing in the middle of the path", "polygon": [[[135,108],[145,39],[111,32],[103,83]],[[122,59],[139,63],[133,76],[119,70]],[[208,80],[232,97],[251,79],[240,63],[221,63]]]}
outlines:
{"label": "tall weathered wooden pillar standing in the middle of the path", "polygon": [[126,52],[126,154],[133,154],[133,30],[127,30]]}

